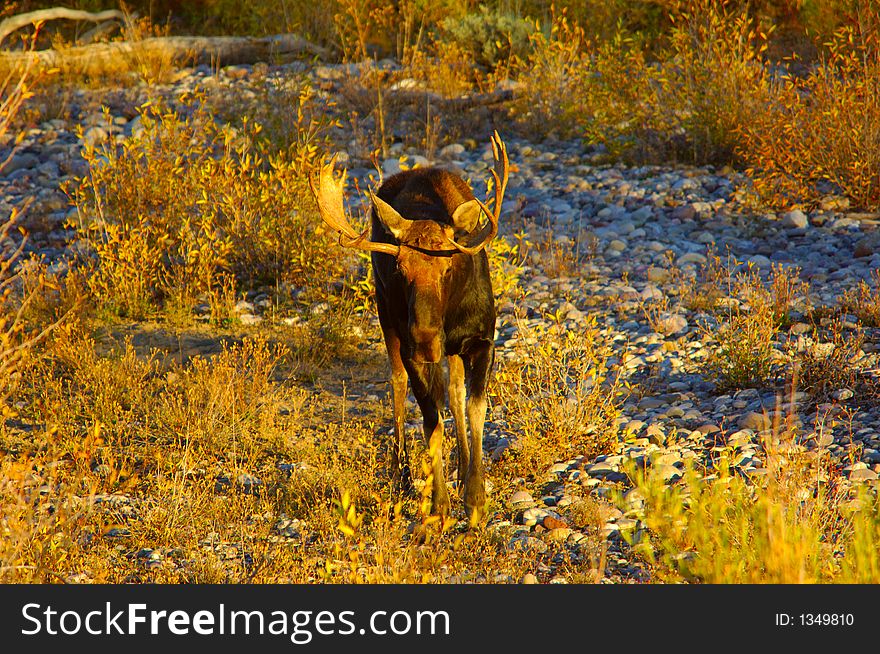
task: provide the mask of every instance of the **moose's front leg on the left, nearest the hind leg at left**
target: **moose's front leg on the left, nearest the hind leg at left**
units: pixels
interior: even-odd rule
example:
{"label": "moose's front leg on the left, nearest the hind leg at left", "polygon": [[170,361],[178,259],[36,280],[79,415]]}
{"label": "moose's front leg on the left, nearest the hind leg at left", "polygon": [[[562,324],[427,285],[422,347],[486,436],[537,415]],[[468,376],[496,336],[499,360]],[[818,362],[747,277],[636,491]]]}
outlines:
{"label": "moose's front leg on the left, nearest the hind leg at left", "polygon": [[449,515],[449,493],[443,475],[443,421],[440,410],[446,399],[443,367],[438,363],[408,362],[413,394],[422,410],[425,439],[431,454],[431,511],[436,515]]}

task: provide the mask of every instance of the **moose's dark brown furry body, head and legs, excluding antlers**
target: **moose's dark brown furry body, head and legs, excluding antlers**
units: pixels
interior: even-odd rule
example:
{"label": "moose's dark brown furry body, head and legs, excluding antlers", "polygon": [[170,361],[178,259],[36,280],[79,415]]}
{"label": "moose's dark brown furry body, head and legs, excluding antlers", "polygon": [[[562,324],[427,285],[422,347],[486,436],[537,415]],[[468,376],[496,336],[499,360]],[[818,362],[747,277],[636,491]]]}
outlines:
{"label": "moose's dark brown furry body, head and legs, excluding antlers", "polygon": [[435,454],[434,510],[448,513],[440,419],[447,391],[442,364],[445,356],[449,365],[449,404],[458,440],[459,483],[463,484],[468,515],[479,516],[486,500],[482,437],[486,385],[494,360],[494,298],[485,250],[475,255],[461,253],[447,240],[461,236],[456,233],[452,215],[474,196],[463,179],[438,168],[398,173],[381,186],[378,196],[400,215],[415,221],[398,239],[385,229],[373,209],[372,240],[401,245],[396,259],[382,252],[372,253],[379,322],[391,362],[395,433],[392,474],[402,486],[410,483],[403,430],[409,381],[422,412],[425,437]]}

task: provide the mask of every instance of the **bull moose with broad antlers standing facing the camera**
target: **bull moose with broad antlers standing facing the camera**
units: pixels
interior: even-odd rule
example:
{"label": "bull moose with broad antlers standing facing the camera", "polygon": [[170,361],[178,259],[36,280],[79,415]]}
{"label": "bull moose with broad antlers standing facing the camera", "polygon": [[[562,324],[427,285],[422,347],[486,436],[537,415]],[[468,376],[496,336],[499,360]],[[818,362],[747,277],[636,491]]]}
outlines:
{"label": "bull moose with broad antlers standing facing the camera", "polygon": [[[491,211],[474,197],[467,182],[448,170],[405,170],[370,193],[371,226],[362,234],[348,222],[343,208],[345,171],[336,177],[331,161],[321,168],[317,180],[310,180],[321,217],[339,233],[340,245],[371,253],[379,324],[391,363],[392,479],[401,489],[411,487],[404,436],[409,380],[432,455],[432,511],[449,513],[440,419],[447,391],[445,357],[458,441],[458,479],[472,522],[480,519],[486,504],[483,425],[495,357],[495,305],[486,247],[498,233],[509,170],[507,148],[498,132],[492,136],[492,151]],[[488,220],[480,226],[484,215]]]}

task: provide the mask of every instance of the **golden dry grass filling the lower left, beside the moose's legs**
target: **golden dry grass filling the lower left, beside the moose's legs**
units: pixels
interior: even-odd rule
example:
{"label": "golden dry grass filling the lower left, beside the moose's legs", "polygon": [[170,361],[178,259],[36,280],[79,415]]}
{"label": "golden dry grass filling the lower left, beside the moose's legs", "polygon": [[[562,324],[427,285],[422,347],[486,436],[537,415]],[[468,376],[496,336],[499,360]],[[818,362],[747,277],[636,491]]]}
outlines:
{"label": "golden dry grass filling the lower left, beside the moose's legs", "polygon": [[[383,408],[295,382],[302,364],[280,344],[215,343],[216,354],[178,363],[82,326],[59,333],[29,367],[18,427],[2,432],[4,581],[430,583],[536,572],[545,555],[510,550],[503,529],[465,533],[464,521],[428,515],[429,496],[391,494],[376,433]],[[325,373],[318,388],[334,379]],[[363,392],[356,379],[350,388]],[[416,447],[416,457],[429,492],[429,453]]]}

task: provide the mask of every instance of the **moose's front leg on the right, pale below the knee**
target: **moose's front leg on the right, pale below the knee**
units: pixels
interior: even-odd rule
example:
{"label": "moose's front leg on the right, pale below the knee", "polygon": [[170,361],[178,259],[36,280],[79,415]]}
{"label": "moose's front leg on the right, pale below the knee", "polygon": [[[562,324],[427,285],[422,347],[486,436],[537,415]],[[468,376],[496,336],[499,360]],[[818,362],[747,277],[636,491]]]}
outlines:
{"label": "moose's front leg on the right, pale below the knee", "polygon": [[466,366],[467,414],[471,428],[470,461],[464,478],[464,507],[471,524],[479,522],[486,508],[486,483],[483,478],[483,426],[486,422],[486,387],[495,348],[483,341],[471,351]]}

